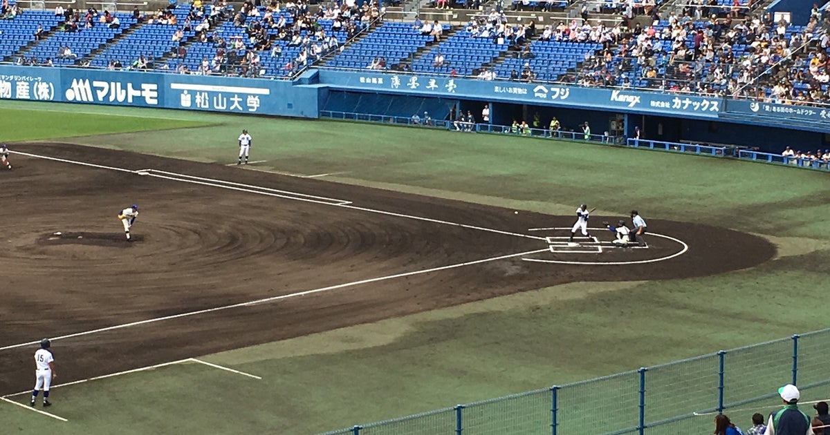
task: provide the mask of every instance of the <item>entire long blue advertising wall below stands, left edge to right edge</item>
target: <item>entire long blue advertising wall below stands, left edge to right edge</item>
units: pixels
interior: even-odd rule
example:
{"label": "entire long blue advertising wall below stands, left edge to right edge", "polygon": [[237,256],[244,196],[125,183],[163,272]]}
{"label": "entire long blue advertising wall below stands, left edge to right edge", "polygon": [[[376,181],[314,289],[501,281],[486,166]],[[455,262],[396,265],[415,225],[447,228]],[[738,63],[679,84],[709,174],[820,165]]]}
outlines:
{"label": "entire long blue advertising wall below stands, left edge to right edge", "polygon": [[[421,101],[417,109],[435,110],[438,116],[453,104],[481,102],[482,106],[493,104],[494,117],[499,114],[499,107],[512,104],[529,108],[579,109],[598,115],[642,115],[697,123],[708,121],[719,123],[723,128],[734,128],[736,123],[741,123],[830,133],[830,109],[628,89],[327,69],[308,70],[299,79],[289,81],[0,65],[0,99],[318,118],[320,110],[354,110],[326,107],[336,99],[351,98],[344,93],[376,100],[415,97]],[[349,101],[345,100],[340,103],[349,105]],[[390,107],[397,109],[402,106],[392,104]],[[476,115],[480,113],[478,108]],[[802,139],[810,143],[821,142],[814,138],[818,136]],[[663,139],[671,140],[668,137]]]}

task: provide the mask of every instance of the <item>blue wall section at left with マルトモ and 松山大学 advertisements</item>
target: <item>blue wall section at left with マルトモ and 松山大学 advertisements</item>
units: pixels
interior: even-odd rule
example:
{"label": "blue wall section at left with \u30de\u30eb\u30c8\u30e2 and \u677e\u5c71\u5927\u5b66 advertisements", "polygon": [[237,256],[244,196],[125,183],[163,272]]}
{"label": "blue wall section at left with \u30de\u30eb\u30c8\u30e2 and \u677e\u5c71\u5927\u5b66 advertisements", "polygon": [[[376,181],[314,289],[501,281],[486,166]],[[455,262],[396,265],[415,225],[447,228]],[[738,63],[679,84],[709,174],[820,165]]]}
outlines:
{"label": "blue wall section at left with \u30de\u30eb\u30c8\u30e2 and \u677e\u5c71\u5927\u5b66 advertisements", "polygon": [[319,94],[282,80],[0,65],[0,99],[317,118]]}

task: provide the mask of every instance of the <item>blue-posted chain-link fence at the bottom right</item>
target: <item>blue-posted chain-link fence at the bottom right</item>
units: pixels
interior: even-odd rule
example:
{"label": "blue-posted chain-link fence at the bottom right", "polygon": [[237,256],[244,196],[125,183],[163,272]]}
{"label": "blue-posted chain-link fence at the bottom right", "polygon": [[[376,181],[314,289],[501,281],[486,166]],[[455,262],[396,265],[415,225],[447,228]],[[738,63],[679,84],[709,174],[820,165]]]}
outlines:
{"label": "blue-posted chain-link fence at the bottom right", "polygon": [[325,435],[711,433],[717,413],[749,422],[752,413],[779,407],[783,384],[799,385],[805,407],[826,399],[828,349],[830,329],[808,332]]}

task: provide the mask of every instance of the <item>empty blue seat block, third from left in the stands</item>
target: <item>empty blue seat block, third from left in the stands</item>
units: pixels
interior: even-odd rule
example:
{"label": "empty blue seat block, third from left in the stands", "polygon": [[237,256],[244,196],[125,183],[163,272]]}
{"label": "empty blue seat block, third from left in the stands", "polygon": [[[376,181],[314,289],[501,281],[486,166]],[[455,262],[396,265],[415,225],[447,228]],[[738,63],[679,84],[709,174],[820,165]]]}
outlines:
{"label": "empty blue seat block, third from left in the stands", "polygon": [[[189,11],[189,6],[179,6],[173,9],[176,22],[183,23],[185,18],[188,17]],[[101,51],[98,56],[91,60],[90,64],[106,66],[110,60],[117,59],[126,67],[141,55],[144,55],[144,58],[148,61],[159,59],[172,51],[173,47],[178,47],[178,42],[173,41],[173,33],[181,28],[178,24],[144,24],[119,41],[107,46],[104,51]],[[195,33],[193,30],[184,31],[183,37],[188,38]]]}

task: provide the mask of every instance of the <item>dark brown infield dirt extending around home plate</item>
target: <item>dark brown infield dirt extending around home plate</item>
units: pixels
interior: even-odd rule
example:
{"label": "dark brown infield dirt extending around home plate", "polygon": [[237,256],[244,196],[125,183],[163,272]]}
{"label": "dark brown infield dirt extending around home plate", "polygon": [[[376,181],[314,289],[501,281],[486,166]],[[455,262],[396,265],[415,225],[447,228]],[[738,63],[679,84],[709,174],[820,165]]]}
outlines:
{"label": "dark brown infield dirt extending around home plate", "polygon": [[[705,276],[775,254],[755,235],[646,215],[651,230],[683,240],[688,251],[643,264],[530,263],[520,254],[621,261],[658,258],[680,245],[652,238],[650,249],[549,254],[535,237],[554,234],[528,229],[569,227],[574,217],[67,144],[13,151],[294,193],[266,196],[259,187],[234,191],[12,155],[15,170],[0,173],[0,348],[7,347],[0,394],[31,388],[36,346],[14,345],[44,336],[330,288],[58,339],[62,383],[558,283]],[[302,201],[310,196],[327,200]],[[115,215],[132,203],[139,219],[128,243]],[[483,259],[494,260],[413,273]],[[413,274],[359,283],[402,273]]]}

